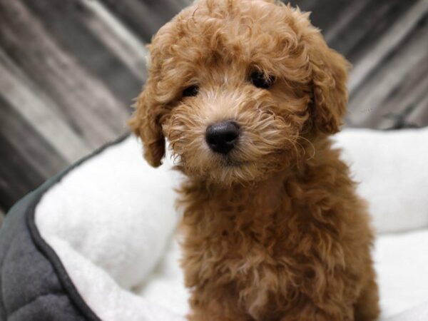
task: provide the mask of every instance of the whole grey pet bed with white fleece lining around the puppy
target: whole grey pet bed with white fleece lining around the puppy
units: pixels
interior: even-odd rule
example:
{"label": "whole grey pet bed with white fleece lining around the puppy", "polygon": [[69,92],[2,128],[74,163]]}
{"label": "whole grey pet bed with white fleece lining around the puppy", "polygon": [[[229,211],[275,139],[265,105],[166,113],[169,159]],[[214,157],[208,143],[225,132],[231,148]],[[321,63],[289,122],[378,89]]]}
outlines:
{"label": "whole grey pet bed with white fleece lining around the puppy", "polygon": [[[335,136],[370,203],[382,321],[428,320],[428,128]],[[0,232],[0,320],[184,320],[180,174],[133,136],[46,181]]]}

